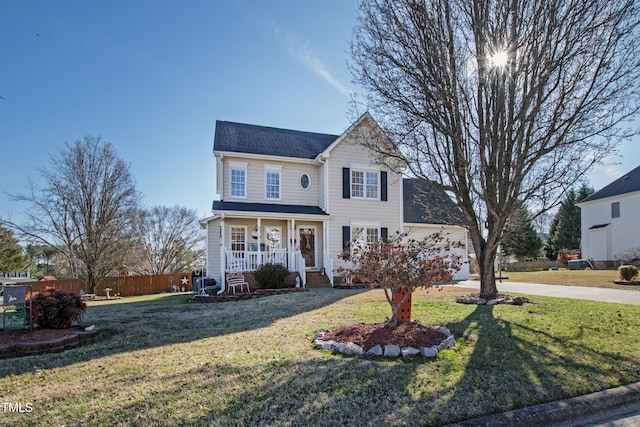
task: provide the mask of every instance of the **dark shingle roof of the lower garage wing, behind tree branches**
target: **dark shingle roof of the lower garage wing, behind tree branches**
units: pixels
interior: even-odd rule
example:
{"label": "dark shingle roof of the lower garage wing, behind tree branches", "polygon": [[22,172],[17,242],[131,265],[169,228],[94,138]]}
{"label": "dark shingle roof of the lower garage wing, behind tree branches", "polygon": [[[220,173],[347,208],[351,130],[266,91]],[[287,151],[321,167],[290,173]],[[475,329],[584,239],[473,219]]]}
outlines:
{"label": "dark shingle roof of the lower garage wing, behind tree branches", "polygon": [[464,215],[443,189],[421,179],[403,179],[404,222],[411,224],[466,224]]}

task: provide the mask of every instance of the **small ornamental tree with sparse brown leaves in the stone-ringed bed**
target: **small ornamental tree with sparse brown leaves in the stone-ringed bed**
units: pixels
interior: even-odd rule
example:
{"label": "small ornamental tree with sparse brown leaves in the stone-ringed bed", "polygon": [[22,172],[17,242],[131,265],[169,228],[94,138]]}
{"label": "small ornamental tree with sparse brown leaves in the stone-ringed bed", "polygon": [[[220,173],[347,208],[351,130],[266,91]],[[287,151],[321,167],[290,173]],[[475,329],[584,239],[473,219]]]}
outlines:
{"label": "small ornamental tree with sparse brown leaves in the stone-ringed bed", "polygon": [[[356,238],[350,249],[339,255],[348,258],[353,268],[341,267],[337,271],[347,280],[358,278],[370,288],[384,289],[391,306],[387,326],[394,328],[398,324],[398,309],[413,291],[453,279],[453,273],[461,265],[461,257],[453,249],[461,246],[460,242],[450,241],[442,231],[422,240],[409,239],[406,233],[400,232],[367,244]],[[394,294],[403,290],[407,291],[404,297],[394,301]]]}

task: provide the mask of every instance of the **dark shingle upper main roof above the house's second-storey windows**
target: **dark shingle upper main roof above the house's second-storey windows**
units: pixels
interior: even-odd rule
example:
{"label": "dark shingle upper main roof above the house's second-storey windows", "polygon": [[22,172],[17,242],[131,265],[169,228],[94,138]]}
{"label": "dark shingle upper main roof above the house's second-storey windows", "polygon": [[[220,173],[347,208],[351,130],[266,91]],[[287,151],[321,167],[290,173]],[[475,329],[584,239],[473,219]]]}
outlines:
{"label": "dark shingle upper main roof above the house's second-storey windows", "polygon": [[338,135],[217,121],[213,149],[314,159],[336,139]]}

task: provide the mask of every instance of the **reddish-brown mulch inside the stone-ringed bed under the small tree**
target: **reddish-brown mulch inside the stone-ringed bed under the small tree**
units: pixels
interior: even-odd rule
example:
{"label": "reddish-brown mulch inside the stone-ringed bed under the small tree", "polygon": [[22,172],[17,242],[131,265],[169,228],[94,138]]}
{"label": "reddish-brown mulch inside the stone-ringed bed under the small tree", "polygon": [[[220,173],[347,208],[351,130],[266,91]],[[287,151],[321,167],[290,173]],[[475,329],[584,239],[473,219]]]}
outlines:
{"label": "reddish-brown mulch inside the stone-ringed bed under the small tree", "polygon": [[446,336],[435,329],[419,322],[398,323],[389,328],[385,323],[354,324],[343,326],[327,332],[324,341],[333,340],[339,343],[352,342],[365,351],[376,345],[394,344],[398,347],[431,347],[438,345]]}

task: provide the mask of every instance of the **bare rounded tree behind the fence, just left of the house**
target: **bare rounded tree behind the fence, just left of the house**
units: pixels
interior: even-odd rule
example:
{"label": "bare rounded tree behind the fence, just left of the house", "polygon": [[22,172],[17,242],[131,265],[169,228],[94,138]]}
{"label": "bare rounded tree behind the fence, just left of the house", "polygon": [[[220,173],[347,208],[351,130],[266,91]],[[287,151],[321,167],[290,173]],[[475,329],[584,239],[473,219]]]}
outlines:
{"label": "bare rounded tree behind the fence, just left of the house", "polygon": [[138,268],[145,274],[192,269],[204,255],[204,232],[195,210],[156,206],[140,211],[136,234]]}

